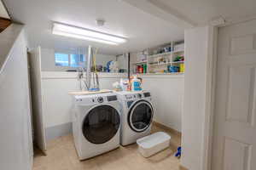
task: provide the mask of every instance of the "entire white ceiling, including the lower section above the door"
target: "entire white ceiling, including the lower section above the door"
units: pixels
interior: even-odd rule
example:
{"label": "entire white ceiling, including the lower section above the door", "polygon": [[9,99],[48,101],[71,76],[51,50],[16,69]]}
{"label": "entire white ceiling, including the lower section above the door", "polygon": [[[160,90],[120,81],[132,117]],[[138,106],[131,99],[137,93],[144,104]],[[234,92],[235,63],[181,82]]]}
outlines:
{"label": "entire white ceiling, including the lower section above the door", "polygon": [[[256,0],[3,0],[11,17],[26,25],[30,48],[75,49],[89,44],[102,54],[122,54],[183,39],[185,28],[222,16],[228,22],[256,18]],[[96,19],[106,20],[103,27]],[[52,21],[127,37],[109,46],[51,34]]]}

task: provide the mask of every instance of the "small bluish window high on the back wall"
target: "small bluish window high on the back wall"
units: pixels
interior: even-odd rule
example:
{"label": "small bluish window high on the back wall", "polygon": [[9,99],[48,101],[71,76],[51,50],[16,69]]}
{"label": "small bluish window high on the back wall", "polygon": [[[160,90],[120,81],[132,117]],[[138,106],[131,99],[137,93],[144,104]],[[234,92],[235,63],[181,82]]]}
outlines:
{"label": "small bluish window high on the back wall", "polygon": [[56,66],[79,67],[84,66],[85,57],[83,54],[61,54],[55,53]]}

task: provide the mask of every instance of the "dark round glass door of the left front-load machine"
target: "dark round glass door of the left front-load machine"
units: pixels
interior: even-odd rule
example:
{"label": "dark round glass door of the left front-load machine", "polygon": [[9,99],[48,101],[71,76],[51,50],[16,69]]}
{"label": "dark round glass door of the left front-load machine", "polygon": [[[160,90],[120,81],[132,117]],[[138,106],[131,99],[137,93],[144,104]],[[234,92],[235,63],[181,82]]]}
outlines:
{"label": "dark round glass door of the left front-load machine", "polygon": [[103,144],[113,138],[119,126],[119,112],[110,105],[99,105],[85,116],[82,130],[90,143]]}

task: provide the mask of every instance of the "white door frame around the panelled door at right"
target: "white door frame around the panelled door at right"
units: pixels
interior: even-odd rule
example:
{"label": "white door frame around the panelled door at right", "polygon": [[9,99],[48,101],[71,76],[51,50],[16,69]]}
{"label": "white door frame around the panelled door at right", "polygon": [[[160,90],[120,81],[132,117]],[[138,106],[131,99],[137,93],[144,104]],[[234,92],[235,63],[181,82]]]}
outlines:
{"label": "white door frame around the panelled door at right", "polygon": [[213,121],[215,111],[215,93],[217,80],[217,59],[218,59],[218,28],[232,26],[241,22],[255,20],[254,18],[245,18],[244,20],[236,20],[224,25],[209,26],[207,41],[207,73],[206,73],[206,96],[205,96],[205,117],[203,122],[203,141],[202,141],[202,157],[201,169],[211,170],[212,163],[212,142],[213,142]]}

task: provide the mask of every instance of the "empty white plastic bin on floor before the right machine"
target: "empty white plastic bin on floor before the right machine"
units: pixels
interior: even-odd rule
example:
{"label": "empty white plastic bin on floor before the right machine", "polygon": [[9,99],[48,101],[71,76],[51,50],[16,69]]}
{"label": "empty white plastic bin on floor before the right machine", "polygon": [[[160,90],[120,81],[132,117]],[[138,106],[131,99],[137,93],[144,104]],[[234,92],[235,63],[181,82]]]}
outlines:
{"label": "empty white plastic bin on floor before the right machine", "polygon": [[167,133],[158,132],[137,139],[138,150],[144,157],[153,156],[160,150],[169,147],[171,136]]}

